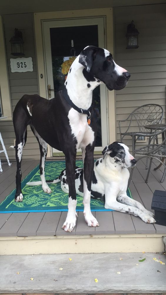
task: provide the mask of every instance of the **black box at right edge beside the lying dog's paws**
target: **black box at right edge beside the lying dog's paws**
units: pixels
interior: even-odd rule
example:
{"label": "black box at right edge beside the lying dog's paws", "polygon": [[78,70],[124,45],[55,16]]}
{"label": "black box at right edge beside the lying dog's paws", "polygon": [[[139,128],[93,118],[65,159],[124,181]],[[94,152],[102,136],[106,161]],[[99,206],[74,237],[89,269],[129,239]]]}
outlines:
{"label": "black box at right edge beside the lying dog's paws", "polygon": [[151,208],[155,213],[156,224],[166,226],[166,191],[154,191]]}

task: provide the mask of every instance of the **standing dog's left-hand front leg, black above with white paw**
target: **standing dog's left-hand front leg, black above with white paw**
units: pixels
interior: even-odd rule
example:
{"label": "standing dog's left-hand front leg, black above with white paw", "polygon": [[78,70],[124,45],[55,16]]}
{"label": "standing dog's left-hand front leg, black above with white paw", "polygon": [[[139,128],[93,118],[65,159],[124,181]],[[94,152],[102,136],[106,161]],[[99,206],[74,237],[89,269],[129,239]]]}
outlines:
{"label": "standing dog's left-hand front leg, black above with white paw", "polygon": [[76,188],[75,188],[75,161],[76,153],[66,156],[66,176],[69,185],[69,203],[66,221],[64,222],[62,229],[66,232],[71,232],[76,225]]}

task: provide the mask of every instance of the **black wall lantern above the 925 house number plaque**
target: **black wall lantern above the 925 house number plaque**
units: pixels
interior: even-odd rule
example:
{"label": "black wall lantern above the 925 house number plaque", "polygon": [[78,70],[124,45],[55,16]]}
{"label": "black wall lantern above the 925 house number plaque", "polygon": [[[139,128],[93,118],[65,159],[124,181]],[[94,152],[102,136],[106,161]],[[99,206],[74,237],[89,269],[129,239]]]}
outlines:
{"label": "black wall lantern above the 925 house number plaque", "polygon": [[12,55],[25,55],[23,49],[22,32],[15,28],[14,36],[9,41],[11,43]]}

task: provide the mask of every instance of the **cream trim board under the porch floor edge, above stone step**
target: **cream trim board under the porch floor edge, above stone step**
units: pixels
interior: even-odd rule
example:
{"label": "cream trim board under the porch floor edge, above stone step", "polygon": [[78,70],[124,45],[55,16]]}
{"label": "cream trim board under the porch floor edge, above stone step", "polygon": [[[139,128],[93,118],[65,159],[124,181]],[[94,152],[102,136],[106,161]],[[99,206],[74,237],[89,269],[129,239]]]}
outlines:
{"label": "cream trim board under the porch floor edge, above stone step", "polygon": [[163,252],[162,237],[162,234],[0,237],[0,255]]}

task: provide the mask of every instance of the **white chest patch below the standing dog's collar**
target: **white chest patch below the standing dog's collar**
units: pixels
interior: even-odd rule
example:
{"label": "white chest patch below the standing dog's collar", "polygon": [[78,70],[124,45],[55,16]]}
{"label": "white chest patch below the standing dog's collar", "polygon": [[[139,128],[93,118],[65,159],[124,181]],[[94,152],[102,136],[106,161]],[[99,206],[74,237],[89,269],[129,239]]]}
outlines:
{"label": "white chest patch below the standing dog's collar", "polygon": [[77,148],[85,148],[89,144],[92,145],[95,135],[87,123],[87,115],[79,115],[77,111],[70,109],[68,118],[71,132],[77,139]]}

